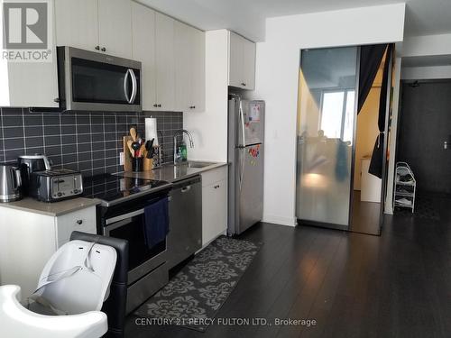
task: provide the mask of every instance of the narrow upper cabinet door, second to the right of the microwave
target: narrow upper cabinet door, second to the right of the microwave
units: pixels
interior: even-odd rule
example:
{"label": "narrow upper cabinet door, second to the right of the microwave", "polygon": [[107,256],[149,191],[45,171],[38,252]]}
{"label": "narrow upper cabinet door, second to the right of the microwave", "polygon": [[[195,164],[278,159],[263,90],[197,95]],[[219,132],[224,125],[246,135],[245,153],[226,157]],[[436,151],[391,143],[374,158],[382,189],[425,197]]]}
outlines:
{"label": "narrow upper cabinet door, second to the right of the microwave", "polygon": [[174,19],[155,14],[156,102],[153,110],[171,111],[175,104]]}

